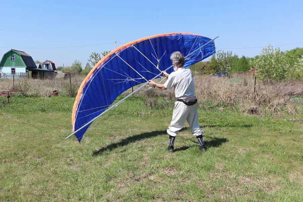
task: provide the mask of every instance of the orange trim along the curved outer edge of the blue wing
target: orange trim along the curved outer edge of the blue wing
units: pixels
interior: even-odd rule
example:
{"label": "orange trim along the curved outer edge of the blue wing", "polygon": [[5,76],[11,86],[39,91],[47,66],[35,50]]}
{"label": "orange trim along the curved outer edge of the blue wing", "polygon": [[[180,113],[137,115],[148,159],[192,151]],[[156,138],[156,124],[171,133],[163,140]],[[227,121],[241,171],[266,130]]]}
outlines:
{"label": "orange trim along the curved outer edge of the blue wing", "polygon": [[[113,54],[117,54],[118,52],[122,51],[123,49],[129,47],[132,44],[147,40],[147,39],[151,39],[151,38],[157,38],[157,37],[161,37],[161,36],[170,36],[170,35],[175,35],[175,34],[187,34],[187,35],[199,35],[199,34],[193,34],[193,33],[188,33],[188,32],[175,32],[175,33],[166,33],[166,34],[157,34],[157,35],[153,35],[153,36],[148,36],[148,37],[144,37],[144,38],[140,38],[138,40],[134,40],[128,43],[125,43],[124,45],[121,45],[120,47],[114,49],[112,52],[110,52],[108,55],[106,55],[104,58],[102,58],[93,68],[92,70],[87,74],[87,76],[85,77],[85,79],[82,81],[76,99],[75,99],[75,103],[73,106],[73,113],[72,113],[72,126],[73,126],[73,132],[75,132],[75,119],[76,119],[76,110],[77,110],[77,106],[79,104],[79,100],[82,94],[82,90],[84,85],[90,80],[91,75],[93,74],[93,72],[103,63],[105,62],[110,56],[112,56]],[[201,35],[199,35],[201,36]]]}

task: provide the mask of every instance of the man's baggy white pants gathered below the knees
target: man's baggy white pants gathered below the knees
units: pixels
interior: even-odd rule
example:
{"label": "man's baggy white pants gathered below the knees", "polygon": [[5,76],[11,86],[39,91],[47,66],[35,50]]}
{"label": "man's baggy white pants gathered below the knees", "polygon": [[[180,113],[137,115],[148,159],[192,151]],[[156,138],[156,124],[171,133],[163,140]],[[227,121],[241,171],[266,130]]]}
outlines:
{"label": "man's baggy white pants gathered below the knees", "polygon": [[190,132],[194,136],[203,134],[203,130],[200,129],[198,122],[197,104],[188,106],[179,101],[175,102],[173,118],[171,125],[167,129],[167,133],[171,136],[176,136],[178,134],[178,131],[183,127],[185,121],[188,122]]}

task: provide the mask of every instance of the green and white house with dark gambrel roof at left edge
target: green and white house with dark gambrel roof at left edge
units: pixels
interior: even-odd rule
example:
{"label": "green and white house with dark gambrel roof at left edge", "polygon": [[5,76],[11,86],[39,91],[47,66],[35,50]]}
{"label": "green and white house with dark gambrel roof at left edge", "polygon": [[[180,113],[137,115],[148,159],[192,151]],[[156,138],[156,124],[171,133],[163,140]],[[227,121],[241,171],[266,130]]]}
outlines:
{"label": "green and white house with dark gambrel roof at left edge", "polygon": [[28,71],[36,68],[30,55],[15,49],[4,54],[0,62],[1,78],[27,78]]}

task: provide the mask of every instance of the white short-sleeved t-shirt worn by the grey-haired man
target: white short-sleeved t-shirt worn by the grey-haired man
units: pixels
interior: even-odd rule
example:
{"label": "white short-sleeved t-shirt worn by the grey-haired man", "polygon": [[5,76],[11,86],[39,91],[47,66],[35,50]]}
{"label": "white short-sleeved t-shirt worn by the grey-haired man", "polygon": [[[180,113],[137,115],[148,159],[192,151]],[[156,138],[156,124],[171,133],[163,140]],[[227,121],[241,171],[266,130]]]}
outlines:
{"label": "white short-sleeved t-shirt worn by the grey-haired man", "polygon": [[174,87],[177,99],[195,96],[192,74],[187,67],[181,67],[177,71],[172,72],[164,83],[164,87],[168,89]]}

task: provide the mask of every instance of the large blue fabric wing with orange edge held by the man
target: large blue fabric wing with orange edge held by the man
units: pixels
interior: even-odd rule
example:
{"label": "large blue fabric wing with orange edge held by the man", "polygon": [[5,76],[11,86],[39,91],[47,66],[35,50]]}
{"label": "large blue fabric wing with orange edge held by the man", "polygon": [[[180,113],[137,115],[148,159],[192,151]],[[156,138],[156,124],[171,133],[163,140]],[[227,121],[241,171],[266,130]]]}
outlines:
{"label": "large blue fabric wing with orange edge held by the man", "polygon": [[[116,48],[100,60],[83,80],[73,107],[73,132],[102,114],[125,90],[146,83],[170,67],[170,55],[175,51],[185,57],[189,55],[184,65],[188,67],[213,55],[215,43],[197,34],[169,33],[142,38]],[[171,68],[167,72],[172,71]],[[75,133],[79,142],[90,124]]]}

